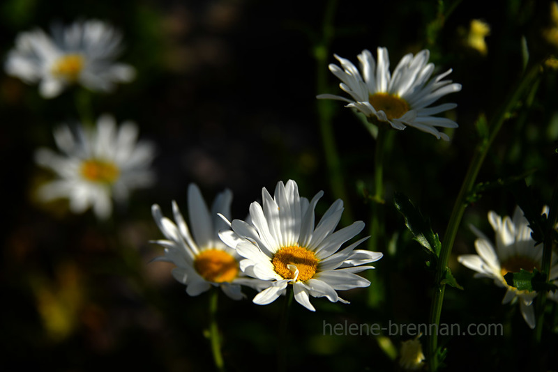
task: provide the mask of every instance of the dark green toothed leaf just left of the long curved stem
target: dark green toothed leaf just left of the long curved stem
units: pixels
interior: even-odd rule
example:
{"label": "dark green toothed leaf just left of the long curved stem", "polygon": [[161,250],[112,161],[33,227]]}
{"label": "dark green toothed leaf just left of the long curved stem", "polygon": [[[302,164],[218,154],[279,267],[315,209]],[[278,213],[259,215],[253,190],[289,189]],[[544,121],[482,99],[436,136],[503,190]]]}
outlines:
{"label": "dark green toothed leaf just left of the long curved stem", "polygon": [[438,238],[438,234],[432,231],[430,222],[423,217],[421,211],[413,205],[405,194],[395,192],[393,203],[395,208],[405,217],[405,226],[414,235],[414,240],[422,245],[429,254],[433,254],[438,258],[442,249],[442,243]]}

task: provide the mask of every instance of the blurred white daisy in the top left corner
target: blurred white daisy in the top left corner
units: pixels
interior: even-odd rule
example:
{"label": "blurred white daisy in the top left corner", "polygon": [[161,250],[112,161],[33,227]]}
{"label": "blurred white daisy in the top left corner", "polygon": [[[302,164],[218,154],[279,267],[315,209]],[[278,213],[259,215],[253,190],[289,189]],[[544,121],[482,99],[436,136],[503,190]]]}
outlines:
{"label": "blurred white daisy in the top left corner", "polygon": [[43,30],[20,33],[6,60],[8,75],[27,84],[39,84],[44,98],[59,95],[70,84],[91,91],[112,91],[114,83],[130,82],[132,66],[114,63],[121,52],[121,34],[99,20],[52,27],[52,38]]}

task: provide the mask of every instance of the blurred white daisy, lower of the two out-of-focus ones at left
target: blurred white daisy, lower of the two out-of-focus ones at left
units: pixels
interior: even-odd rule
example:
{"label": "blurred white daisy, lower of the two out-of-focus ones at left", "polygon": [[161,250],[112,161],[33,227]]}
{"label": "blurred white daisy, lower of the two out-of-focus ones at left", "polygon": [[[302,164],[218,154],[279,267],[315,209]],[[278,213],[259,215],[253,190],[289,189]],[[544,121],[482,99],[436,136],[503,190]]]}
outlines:
{"label": "blurred white daisy, lower of the two out-of-focus ones at left", "polygon": [[126,201],[130,189],[153,183],[149,169],[154,148],[137,141],[137,126],[126,122],[117,129],[110,115],[98,118],[94,128],[77,127],[74,134],[67,126],[54,130],[54,140],[62,151],[56,154],[39,148],[35,160],[58,176],[38,189],[43,201],[68,198],[70,210],[84,212],[89,207],[100,219],[112,213],[112,201]]}

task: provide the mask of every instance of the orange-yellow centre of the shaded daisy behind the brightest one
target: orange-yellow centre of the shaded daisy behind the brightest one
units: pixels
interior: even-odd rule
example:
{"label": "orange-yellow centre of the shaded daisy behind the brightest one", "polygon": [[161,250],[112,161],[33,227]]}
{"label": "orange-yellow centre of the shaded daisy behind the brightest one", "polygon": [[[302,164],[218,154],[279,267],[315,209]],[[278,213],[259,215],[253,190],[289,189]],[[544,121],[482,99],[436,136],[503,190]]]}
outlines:
{"label": "orange-yellow centre of the shaded daisy behind the brightest one", "polygon": [[233,256],[220,249],[207,249],[198,254],[194,268],[206,281],[230,282],[239,274],[239,263]]}

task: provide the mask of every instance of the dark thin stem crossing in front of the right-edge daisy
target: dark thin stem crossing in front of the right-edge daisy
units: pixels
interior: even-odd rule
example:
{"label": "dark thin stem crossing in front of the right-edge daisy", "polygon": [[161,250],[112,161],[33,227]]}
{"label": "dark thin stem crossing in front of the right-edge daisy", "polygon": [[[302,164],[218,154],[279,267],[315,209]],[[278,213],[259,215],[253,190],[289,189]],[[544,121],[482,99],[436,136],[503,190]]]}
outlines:
{"label": "dark thin stem crossing in front of the right-edge daisy", "polygon": [[[548,216],[545,226],[545,240],[543,245],[543,263],[541,265],[541,270],[545,275],[545,281],[550,279],[550,263],[552,261],[552,248],[554,244],[553,234],[554,228],[558,221],[558,177],[555,180],[554,191],[552,192],[552,200],[550,201],[550,210],[548,210]],[[538,294],[537,298],[537,320],[536,320],[536,330],[535,330],[535,340],[537,343],[541,342],[541,336],[543,334],[543,320],[545,315],[545,304],[546,295],[548,290],[543,290]]]}

